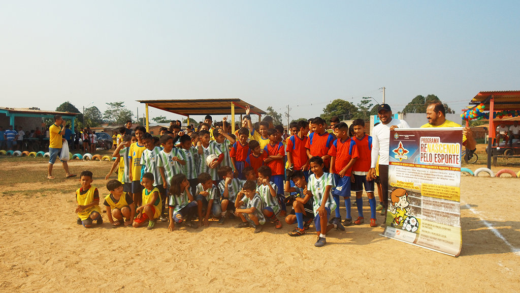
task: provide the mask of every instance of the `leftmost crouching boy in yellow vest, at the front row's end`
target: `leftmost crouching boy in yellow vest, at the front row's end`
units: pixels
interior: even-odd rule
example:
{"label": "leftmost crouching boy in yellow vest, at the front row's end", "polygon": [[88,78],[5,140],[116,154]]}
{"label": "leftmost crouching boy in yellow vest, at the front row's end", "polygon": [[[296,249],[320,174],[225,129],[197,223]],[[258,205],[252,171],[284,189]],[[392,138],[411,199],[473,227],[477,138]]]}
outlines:
{"label": "leftmost crouching boy in yellow vest, at the front row's end", "polygon": [[99,210],[99,192],[92,185],[92,172],[83,171],[80,174],[81,188],[76,190],[76,213],[78,216],[77,224],[83,225],[85,228],[91,228],[93,221],[96,224],[103,224]]}

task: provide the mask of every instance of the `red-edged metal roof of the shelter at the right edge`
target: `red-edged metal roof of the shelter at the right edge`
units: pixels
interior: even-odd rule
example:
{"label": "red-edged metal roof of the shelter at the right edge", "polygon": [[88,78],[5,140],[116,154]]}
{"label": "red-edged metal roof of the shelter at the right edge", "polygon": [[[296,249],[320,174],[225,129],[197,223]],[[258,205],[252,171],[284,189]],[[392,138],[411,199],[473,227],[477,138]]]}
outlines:
{"label": "red-edged metal roof of the shelter at the right edge", "polygon": [[508,111],[520,109],[520,91],[489,91],[479,92],[470,101],[470,104],[483,103],[489,111],[489,102],[493,96],[493,111]]}

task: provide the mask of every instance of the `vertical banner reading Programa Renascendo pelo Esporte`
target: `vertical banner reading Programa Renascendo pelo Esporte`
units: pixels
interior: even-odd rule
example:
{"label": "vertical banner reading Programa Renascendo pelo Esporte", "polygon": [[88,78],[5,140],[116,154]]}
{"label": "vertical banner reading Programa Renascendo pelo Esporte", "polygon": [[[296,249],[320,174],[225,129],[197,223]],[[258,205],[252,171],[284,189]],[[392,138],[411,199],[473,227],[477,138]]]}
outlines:
{"label": "vertical banner reading Programa Renascendo pelo Esporte", "polygon": [[458,257],[462,128],[390,132],[383,236]]}

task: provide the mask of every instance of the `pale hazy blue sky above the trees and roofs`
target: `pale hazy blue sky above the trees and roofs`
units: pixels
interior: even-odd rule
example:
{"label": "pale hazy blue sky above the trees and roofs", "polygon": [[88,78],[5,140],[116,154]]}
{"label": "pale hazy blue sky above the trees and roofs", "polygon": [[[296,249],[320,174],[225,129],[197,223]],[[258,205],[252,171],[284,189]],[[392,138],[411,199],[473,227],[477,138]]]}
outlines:
{"label": "pale hazy blue sky above the trees and roofs", "polygon": [[[0,107],[242,99],[290,119],[363,96],[460,111],[520,90],[518,1],[0,1]],[[91,104],[92,103],[92,104]],[[456,112],[458,113],[458,112]],[[180,115],[150,108],[150,118]],[[203,117],[193,117],[202,120]],[[219,119],[219,117],[214,117]]]}

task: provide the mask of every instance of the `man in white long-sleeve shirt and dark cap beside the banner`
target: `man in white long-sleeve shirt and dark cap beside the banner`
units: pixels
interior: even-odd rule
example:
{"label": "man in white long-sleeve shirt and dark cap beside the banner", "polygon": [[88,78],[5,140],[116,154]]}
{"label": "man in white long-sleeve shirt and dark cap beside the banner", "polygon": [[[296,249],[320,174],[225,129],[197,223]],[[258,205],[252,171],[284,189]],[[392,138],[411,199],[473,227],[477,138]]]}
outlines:
{"label": "man in white long-sleeve shirt and dark cap beside the banner", "polygon": [[[381,123],[374,126],[372,133],[372,163],[368,176],[376,178],[375,175],[375,164],[378,162],[379,156],[379,180],[383,190],[383,209],[386,211],[388,208],[388,156],[390,148],[390,130],[395,128],[410,128],[405,120],[393,119],[392,108],[388,104],[381,104],[378,107],[378,116]],[[386,225],[383,222],[381,227]]]}

